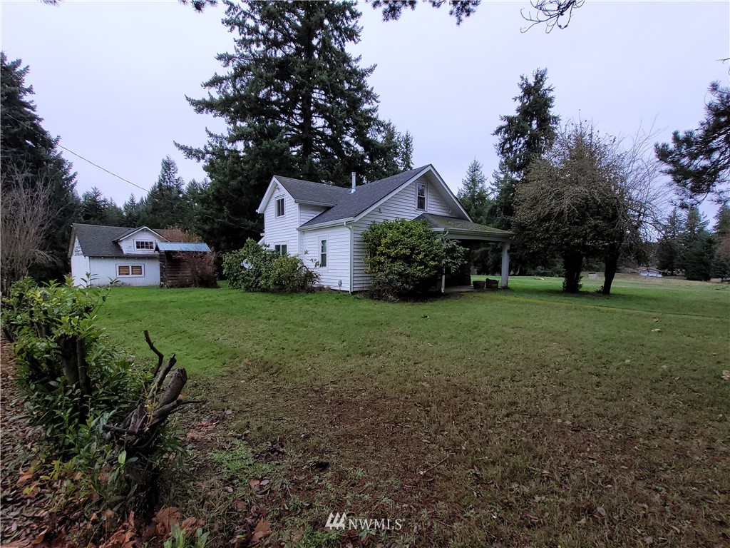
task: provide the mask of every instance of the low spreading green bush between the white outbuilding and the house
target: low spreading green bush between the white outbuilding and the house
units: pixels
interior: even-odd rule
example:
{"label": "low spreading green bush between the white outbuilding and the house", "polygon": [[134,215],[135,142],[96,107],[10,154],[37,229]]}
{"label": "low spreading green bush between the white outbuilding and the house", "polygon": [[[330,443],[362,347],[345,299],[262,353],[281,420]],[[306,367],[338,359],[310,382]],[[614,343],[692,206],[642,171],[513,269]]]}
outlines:
{"label": "low spreading green bush between the white outbuilding and the house", "polygon": [[223,274],[231,287],[245,291],[311,291],[319,280],[298,256],[280,256],[250,238],[243,248],[223,256]]}

